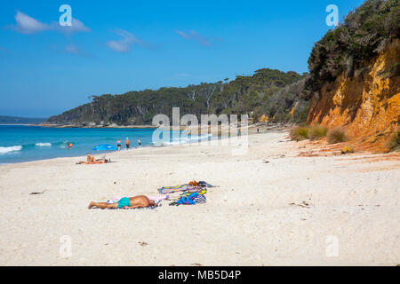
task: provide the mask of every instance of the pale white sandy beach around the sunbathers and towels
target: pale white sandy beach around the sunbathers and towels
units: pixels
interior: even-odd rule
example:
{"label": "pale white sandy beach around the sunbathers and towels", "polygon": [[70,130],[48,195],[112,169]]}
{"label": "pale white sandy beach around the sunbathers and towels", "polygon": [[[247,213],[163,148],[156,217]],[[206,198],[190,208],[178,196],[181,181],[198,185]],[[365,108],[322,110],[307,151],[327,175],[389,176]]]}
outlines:
{"label": "pale white sandy beach around the sunbathers and towels", "polygon": [[[286,137],[251,135],[237,156],[203,143],[109,154],[116,162],[108,164],[76,165],[82,157],[1,165],[0,264],[399,264],[400,161],[299,157],[306,142]],[[220,187],[202,205],[87,209],[192,179]],[[63,236],[69,257],[60,255]]]}

